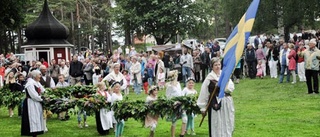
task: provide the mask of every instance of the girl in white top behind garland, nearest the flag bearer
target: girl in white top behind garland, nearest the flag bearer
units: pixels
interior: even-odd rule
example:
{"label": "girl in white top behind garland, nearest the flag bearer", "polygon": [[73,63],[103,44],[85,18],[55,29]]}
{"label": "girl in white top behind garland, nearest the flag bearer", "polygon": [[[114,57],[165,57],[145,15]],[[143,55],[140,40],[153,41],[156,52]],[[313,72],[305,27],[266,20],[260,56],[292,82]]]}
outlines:
{"label": "girl in white top behind garland, nearest the flag bearer", "polygon": [[[194,89],[194,82],[195,80],[190,77],[187,79],[187,87],[185,87],[182,90],[182,94],[184,96],[195,96],[197,94],[197,91]],[[194,132],[194,114],[187,114],[188,117],[188,122],[187,122],[187,128],[186,128],[186,133],[188,134],[188,130],[191,129],[191,135],[196,135]]]}

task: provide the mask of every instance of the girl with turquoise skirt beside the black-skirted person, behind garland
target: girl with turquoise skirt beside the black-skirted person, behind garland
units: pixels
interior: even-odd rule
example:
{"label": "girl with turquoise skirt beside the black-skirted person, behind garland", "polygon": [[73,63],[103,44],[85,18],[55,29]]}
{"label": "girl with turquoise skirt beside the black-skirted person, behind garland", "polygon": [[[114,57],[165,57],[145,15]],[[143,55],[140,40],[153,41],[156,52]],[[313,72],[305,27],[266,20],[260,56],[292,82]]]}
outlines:
{"label": "girl with turquoise skirt beside the black-skirted person, behind garland", "polygon": [[[120,90],[120,83],[119,82],[114,82],[111,85],[112,88],[112,95],[111,95],[111,103],[113,104],[116,101],[120,101],[123,99],[122,94],[121,94],[121,90]],[[113,124],[114,126],[114,130],[115,130],[115,137],[121,137],[123,134],[123,128],[124,128],[124,120],[116,120],[116,118],[114,117],[113,114]]]}

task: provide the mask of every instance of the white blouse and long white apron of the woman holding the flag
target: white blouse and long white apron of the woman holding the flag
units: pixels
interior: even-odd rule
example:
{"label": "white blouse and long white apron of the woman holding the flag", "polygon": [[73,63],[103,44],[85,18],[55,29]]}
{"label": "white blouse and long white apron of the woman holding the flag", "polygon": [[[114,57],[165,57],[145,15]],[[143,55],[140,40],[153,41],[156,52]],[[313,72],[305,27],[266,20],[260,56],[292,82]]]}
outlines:
{"label": "white blouse and long white apron of the woman holding the flag", "polygon": [[[210,93],[208,92],[208,86],[210,80],[219,80],[219,76],[213,71],[208,74],[204,80],[199,98],[197,100],[197,105],[200,107],[201,111],[205,111],[206,106],[209,101]],[[234,90],[234,84],[229,80],[227,87],[225,88],[225,93],[231,93]],[[234,105],[231,96],[225,96],[221,99],[221,108],[217,111],[209,108],[208,118],[211,119],[208,123],[211,128],[209,128],[210,137],[232,137],[234,131]],[[211,113],[210,113],[211,112]]]}

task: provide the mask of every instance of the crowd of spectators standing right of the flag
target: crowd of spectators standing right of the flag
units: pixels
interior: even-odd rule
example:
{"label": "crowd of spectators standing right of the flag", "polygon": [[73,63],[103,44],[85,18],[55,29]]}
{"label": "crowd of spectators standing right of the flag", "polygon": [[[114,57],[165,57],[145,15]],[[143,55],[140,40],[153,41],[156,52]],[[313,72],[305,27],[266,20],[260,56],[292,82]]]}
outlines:
{"label": "crowd of spectators standing right of the flag", "polygon": [[[286,77],[287,83],[295,84],[297,76],[300,82],[306,82],[308,93],[319,94],[318,71],[319,71],[319,42],[320,33],[302,33],[298,37],[285,42],[284,39],[274,41],[271,38],[262,40],[257,35],[254,43],[248,44],[243,60],[239,62],[239,69],[235,69],[236,82],[239,82],[241,72],[243,76],[251,79],[263,78],[270,75],[278,78],[283,83]],[[291,80],[292,78],[292,80]]]}

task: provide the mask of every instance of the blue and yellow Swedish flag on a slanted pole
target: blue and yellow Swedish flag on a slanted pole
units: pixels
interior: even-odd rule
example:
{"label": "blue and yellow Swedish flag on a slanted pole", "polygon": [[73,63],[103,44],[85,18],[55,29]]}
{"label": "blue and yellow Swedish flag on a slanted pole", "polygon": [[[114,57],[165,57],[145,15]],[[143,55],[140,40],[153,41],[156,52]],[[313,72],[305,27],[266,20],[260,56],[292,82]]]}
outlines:
{"label": "blue and yellow Swedish flag on a slanted pole", "polygon": [[224,90],[229,82],[231,74],[242,56],[256,17],[259,2],[260,0],[253,0],[227,40],[224,50],[225,54],[222,73],[218,82],[218,86],[220,87],[219,99],[224,97]]}

